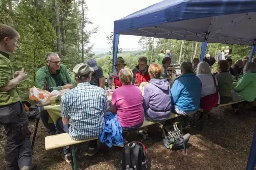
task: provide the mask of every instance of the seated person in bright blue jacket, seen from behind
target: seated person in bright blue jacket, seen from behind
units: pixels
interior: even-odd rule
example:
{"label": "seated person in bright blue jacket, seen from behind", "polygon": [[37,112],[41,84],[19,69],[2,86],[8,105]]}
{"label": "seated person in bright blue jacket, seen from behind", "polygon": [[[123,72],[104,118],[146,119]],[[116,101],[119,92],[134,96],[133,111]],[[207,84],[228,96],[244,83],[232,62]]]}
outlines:
{"label": "seated person in bright blue jacket, seen from behind", "polygon": [[192,63],[181,63],[182,75],[174,80],[170,90],[172,112],[191,115],[200,108],[201,88],[200,79],[195,75]]}

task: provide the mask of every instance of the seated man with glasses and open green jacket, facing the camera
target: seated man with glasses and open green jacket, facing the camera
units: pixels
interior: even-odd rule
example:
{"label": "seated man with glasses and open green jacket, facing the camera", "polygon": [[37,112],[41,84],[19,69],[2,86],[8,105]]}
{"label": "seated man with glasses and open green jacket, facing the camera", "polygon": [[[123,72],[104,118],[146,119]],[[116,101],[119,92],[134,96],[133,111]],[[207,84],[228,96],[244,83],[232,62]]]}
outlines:
{"label": "seated man with glasses and open green jacket, facing the camera", "polygon": [[[46,65],[36,72],[36,86],[44,89],[45,85],[52,90],[72,89],[73,81],[70,78],[68,69],[65,65],[60,64],[59,56],[55,52],[49,52],[45,56]],[[42,109],[40,114],[49,134],[56,133],[54,123],[48,123],[49,113]]]}

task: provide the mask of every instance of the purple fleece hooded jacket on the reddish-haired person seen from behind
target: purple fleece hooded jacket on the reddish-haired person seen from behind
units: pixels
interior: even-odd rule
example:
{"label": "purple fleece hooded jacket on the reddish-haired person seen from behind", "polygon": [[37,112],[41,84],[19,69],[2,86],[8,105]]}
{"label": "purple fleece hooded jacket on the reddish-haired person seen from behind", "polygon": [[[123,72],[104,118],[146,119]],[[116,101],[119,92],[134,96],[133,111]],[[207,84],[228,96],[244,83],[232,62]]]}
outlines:
{"label": "purple fleece hooded jacket on the reddish-haired person seen from behind", "polygon": [[143,108],[154,121],[164,121],[171,114],[169,83],[165,79],[151,79],[144,87]]}

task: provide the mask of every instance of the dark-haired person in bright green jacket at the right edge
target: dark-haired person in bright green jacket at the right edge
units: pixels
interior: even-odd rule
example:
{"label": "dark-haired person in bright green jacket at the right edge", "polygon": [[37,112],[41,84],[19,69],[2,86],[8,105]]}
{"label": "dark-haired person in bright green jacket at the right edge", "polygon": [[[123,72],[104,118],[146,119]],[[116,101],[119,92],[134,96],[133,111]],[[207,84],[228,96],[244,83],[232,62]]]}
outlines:
{"label": "dark-haired person in bright green jacket at the right edge", "polygon": [[252,102],[256,98],[256,64],[248,62],[243,69],[243,75],[233,89],[245,101]]}

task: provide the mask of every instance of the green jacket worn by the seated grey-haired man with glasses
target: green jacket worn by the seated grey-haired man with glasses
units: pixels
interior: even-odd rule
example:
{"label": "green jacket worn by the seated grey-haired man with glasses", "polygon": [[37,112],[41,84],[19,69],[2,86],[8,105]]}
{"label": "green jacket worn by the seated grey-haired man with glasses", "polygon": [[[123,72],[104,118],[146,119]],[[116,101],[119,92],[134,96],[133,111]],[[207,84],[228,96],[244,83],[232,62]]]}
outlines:
{"label": "green jacket worn by the seated grey-haired man with glasses", "polygon": [[[68,69],[65,65],[61,64],[58,74],[61,77],[61,80],[64,84],[70,84],[70,83],[74,84],[70,78]],[[47,65],[40,68],[36,72],[36,86],[40,89],[43,89],[45,86],[45,83],[47,83],[48,87],[50,88],[52,87],[53,90],[58,90],[58,91],[62,90],[61,86],[56,87],[56,83],[52,76],[52,72]]]}

